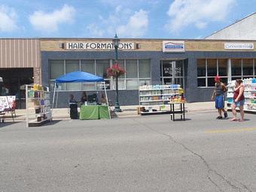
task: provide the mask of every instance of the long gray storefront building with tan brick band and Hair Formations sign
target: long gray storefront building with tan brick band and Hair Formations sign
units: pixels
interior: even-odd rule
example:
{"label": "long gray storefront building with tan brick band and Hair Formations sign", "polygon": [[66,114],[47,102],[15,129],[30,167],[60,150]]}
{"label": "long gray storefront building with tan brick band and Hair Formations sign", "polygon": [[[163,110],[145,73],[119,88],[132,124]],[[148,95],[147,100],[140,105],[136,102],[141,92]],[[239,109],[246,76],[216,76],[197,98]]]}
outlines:
{"label": "long gray storefront building with tan brick band and Hair Formations sign", "polygon": [[[18,41],[17,39],[14,41]],[[33,77],[53,90],[59,75],[74,71],[90,72],[105,78],[108,97],[114,102],[114,79],[106,70],[114,63],[111,39],[40,38],[38,66],[31,66]],[[209,101],[215,75],[224,83],[236,78],[255,78],[256,41],[120,39],[118,62],[125,69],[119,79],[120,105],[139,105],[139,86],[181,84],[187,102]],[[33,62],[33,65],[34,62]],[[37,64],[38,65],[38,64]],[[1,69],[2,70],[2,69]],[[37,75],[35,75],[35,73]],[[102,91],[99,83],[59,84],[59,108],[68,106],[69,94],[81,98]]]}

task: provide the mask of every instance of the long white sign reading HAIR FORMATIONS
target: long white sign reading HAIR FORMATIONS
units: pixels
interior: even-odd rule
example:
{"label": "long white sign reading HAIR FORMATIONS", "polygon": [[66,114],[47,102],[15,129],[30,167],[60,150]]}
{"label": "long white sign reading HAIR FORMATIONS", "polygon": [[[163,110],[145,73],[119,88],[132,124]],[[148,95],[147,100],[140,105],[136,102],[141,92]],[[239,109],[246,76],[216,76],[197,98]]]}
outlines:
{"label": "long white sign reading HAIR FORMATIONS", "polygon": [[[67,50],[114,50],[112,42],[67,42]],[[134,43],[121,42],[118,46],[120,50],[134,50]]]}

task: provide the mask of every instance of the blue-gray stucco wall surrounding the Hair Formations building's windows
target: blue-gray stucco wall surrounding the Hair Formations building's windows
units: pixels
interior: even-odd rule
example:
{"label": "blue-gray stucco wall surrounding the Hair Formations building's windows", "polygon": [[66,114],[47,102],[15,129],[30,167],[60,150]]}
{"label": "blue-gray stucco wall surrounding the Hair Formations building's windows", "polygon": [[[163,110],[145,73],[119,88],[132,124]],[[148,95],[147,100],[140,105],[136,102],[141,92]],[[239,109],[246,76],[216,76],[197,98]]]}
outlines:
{"label": "blue-gray stucco wall surrounding the Hair Formations building's windows", "polygon": [[[197,88],[197,59],[203,58],[256,58],[256,53],[251,51],[224,51],[224,52],[184,52],[163,53],[158,51],[119,51],[120,59],[151,59],[151,83],[161,84],[160,60],[161,59],[185,59],[185,96],[187,102],[209,101],[212,88]],[[42,84],[49,86],[49,59],[114,59],[114,51],[42,51],[41,52]],[[74,93],[75,98],[80,99],[81,91],[60,92],[59,108],[67,106],[69,94]],[[96,93],[93,92],[93,93]],[[88,92],[90,94],[90,92]],[[114,90],[108,90],[108,97],[114,102]],[[138,105],[138,90],[120,90],[120,105]]]}

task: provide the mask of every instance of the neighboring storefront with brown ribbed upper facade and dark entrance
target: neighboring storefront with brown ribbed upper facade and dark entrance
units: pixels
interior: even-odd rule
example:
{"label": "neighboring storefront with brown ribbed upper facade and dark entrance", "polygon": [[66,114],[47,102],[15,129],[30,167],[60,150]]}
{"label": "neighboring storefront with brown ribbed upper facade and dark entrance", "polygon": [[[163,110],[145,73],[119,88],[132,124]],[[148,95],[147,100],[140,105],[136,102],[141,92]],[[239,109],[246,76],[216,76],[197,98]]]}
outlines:
{"label": "neighboring storefront with brown ribbed upper facade and dark entrance", "polygon": [[16,96],[17,108],[25,108],[25,84],[41,84],[40,41],[34,38],[0,39],[1,95]]}

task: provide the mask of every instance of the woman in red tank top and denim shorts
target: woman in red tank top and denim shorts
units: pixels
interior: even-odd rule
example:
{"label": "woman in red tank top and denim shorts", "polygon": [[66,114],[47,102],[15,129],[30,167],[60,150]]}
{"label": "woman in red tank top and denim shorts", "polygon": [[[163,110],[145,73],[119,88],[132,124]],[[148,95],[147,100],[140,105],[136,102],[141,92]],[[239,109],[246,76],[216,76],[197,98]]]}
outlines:
{"label": "woman in red tank top and denim shorts", "polygon": [[233,91],[233,103],[231,105],[232,113],[233,113],[233,118],[231,121],[236,121],[238,120],[236,118],[236,107],[239,108],[240,114],[241,114],[241,119],[239,120],[240,122],[244,121],[244,116],[245,112],[243,111],[243,105],[245,104],[245,96],[243,94],[245,90],[245,87],[242,85],[242,79],[236,79],[235,82],[235,89]]}

